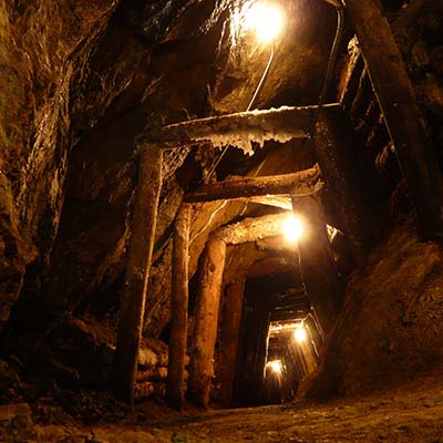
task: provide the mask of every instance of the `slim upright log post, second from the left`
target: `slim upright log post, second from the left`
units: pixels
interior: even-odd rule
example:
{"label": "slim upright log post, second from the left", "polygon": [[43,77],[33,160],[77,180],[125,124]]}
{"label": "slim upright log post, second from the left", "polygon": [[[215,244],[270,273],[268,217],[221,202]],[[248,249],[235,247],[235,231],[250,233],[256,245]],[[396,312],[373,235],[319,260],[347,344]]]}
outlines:
{"label": "slim upright log post, second from the left", "polygon": [[177,410],[182,410],[185,398],[189,226],[190,206],[184,204],[178,210],[173,240],[172,324],[166,389],[167,404]]}

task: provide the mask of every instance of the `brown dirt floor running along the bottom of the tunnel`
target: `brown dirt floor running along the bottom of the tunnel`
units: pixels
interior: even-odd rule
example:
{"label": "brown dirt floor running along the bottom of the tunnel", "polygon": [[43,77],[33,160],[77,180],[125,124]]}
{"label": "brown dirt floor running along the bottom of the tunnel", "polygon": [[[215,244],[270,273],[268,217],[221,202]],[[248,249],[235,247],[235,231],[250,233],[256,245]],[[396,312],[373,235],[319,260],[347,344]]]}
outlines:
{"label": "brown dirt floor running along the bottom of the tunnel", "polygon": [[443,372],[389,391],[321,404],[212,410],[183,414],[146,402],[122,422],[35,425],[32,441],[135,442],[416,442],[443,443]]}

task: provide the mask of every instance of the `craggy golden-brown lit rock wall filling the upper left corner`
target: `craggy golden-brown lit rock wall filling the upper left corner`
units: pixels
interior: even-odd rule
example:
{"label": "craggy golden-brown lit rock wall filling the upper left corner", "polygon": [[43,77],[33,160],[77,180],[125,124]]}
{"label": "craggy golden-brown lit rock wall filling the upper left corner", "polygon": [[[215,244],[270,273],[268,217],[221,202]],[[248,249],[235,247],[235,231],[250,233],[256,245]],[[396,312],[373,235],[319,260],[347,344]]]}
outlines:
{"label": "craggy golden-brown lit rock wall filling the upper left corner", "polygon": [[72,81],[115,6],[0,2],[1,322],[25,267],[41,266],[51,250],[68,169]]}

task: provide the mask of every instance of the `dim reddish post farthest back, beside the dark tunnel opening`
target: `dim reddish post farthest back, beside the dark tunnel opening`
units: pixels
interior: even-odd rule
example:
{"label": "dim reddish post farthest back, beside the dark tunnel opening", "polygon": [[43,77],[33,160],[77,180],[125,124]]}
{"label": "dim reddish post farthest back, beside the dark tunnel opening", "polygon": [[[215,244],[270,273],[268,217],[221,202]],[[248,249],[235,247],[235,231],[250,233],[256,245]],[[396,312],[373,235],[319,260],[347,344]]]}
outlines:
{"label": "dim reddish post farthest back, beside the dark tunnel opening", "polygon": [[226,297],[223,306],[218,367],[222,384],[222,402],[225,408],[230,406],[233,402],[244,291],[245,278],[229,285],[226,288]]}

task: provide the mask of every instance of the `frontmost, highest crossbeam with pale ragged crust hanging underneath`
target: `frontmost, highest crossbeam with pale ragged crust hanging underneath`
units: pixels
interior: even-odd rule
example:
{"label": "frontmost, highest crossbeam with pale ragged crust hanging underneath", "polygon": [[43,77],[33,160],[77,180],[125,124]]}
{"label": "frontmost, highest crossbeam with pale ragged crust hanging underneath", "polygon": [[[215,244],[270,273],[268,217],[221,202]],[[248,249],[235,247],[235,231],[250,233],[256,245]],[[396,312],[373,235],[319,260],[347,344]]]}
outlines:
{"label": "frontmost, highest crossbeam with pale ragged crust hanging underneath", "polygon": [[[336,103],[324,105],[322,110],[328,113],[336,106]],[[266,140],[287,142],[307,137],[317,109],[318,106],[282,106],[277,110],[190,120],[141,134],[137,143],[155,143],[164,148],[175,148],[210,142],[214,146],[230,144],[250,151],[250,142],[262,144]]]}

